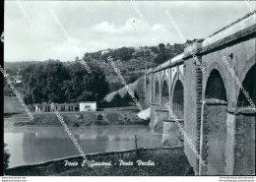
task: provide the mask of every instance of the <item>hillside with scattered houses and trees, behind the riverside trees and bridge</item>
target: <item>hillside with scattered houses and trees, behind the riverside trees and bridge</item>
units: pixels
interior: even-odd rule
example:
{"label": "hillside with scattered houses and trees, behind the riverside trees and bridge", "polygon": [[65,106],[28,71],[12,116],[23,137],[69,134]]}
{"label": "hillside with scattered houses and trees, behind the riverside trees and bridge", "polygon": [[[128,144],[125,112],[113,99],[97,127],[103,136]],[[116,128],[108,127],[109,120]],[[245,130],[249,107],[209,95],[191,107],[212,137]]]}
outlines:
{"label": "hillside with scattered houses and trees, behind the riverside trees and bridge", "polygon": [[[187,42],[191,42],[187,40]],[[144,100],[144,79],[142,76],[145,70],[158,66],[159,64],[171,59],[180,54],[185,48],[184,44],[160,43],[156,46],[141,46],[137,47],[121,47],[116,49],[99,50],[96,52],[85,53],[83,58],[76,57],[72,62],[64,64],[73,64],[76,61],[84,59],[88,65],[96,66],[103,71],[106,81],[109,85],[110,93],[106,95],[106,100],[111,100],[112,96],[118,91],[121,95],[126,93],[126,89],[117,77],[113,67],[107,62],[106,58],[111,56],[113,62],[120,70],[120,73],[132,91],[137,91],[140,98]],[[24,62],[5,62],[4,67],[10,73],[15,75],[19,68],[24,70],[32,64],[41,64],[42,61],[24,61]],[[138,84],[140,83],[140,84]],[[12,103],[12,101],[10,102]],[[11,104],[12,105],[12,104]],[[12,107],[13,106],[8,106]],[[12,109],[11,109],[12,110]]]}

